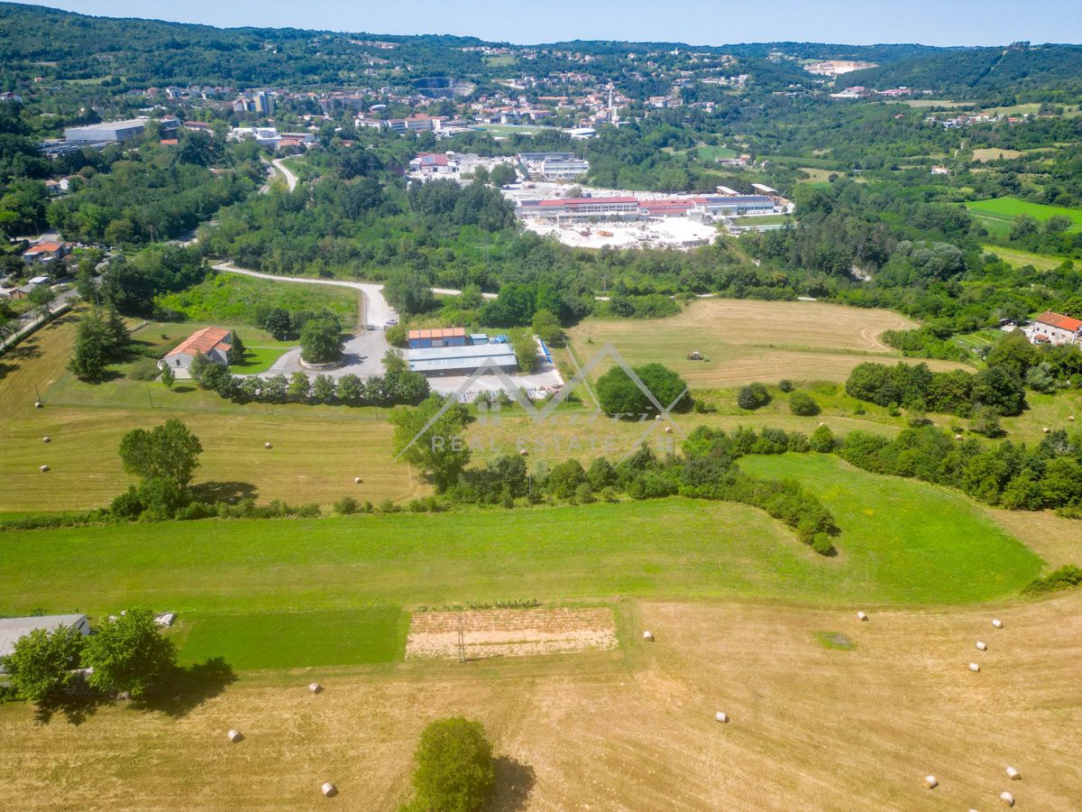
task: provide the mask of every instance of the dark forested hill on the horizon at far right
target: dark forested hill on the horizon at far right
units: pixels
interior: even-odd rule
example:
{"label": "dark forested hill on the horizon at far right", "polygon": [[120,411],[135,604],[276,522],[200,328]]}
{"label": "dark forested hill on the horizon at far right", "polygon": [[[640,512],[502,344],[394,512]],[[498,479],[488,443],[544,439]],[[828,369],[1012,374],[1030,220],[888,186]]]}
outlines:
{"label": "dark forested hill on the horizon at far right", "polygon": [[1082,90],[1082,45],[1016,43],[938,50],[847,74],[844,82],[879,90],[928,89],[962,99],[1038,89],[1078,92]]}

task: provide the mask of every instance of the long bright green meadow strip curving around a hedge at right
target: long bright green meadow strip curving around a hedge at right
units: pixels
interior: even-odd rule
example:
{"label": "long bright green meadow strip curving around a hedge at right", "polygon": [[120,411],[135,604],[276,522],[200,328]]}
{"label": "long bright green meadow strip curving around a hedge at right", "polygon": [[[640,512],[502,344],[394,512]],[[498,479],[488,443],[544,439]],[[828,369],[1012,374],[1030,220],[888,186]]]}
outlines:
{"label": "long bright green meadow strip curving around a hedge at right", "polygon": [[953,492],[834,457],[741,466],[805,482],[834,514],[840,554],[817,555],[758,510],[679,498],[9,532],[0,611],[243,614],[612,594],[968,603],[1013,594],[1041,569]]}

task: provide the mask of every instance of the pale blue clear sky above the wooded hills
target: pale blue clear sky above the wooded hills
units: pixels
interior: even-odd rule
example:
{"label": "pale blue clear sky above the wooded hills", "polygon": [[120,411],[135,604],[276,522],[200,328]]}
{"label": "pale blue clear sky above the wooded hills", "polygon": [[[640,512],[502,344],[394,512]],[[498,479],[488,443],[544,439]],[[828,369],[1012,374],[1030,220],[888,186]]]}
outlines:
{"label": "pale blue clear sky above the wooded hills", "polygon": [[83,14],[215,26],[571,39],[990,45],[1082,42],[1082,0],[39,0]]}

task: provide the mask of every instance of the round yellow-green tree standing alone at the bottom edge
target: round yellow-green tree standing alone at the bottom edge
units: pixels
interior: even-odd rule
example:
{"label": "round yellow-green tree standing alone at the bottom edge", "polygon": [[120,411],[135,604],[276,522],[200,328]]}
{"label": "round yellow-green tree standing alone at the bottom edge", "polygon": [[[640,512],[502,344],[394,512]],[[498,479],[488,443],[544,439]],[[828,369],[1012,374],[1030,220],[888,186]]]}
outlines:
{"label": "round yellow-green tree standing alone at the bottom edge", "polygon": [[413,754],[412,810],[479,810],[496,781],[492,745],[480,722],[452,717],[432,722]]}

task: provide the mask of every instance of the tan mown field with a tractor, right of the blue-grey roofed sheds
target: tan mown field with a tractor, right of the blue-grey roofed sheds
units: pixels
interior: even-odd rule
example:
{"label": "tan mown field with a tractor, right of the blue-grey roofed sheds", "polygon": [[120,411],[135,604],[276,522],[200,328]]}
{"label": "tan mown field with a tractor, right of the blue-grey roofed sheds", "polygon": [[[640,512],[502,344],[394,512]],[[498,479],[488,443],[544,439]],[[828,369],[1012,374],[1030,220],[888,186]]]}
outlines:
{"label": "tan mown field with a tractor, right of the blue-grey roofed sheds", "polygon": [[[611,343],[631,364],[658,362],[679,372],[692,389],[721,389],[783,378],[844,381],[857,364],[894,353],[879,338],[884,330],[915,326],[886,310],[707,299],[669,318],[589,319],[569,336],[580,364]],[[687,354],[696,351],[709,361],[687,361]],[[925,363],[933,369],[963,367],[944,361]],[[610,362],[601,364],[594,377],[609,366]]]}

